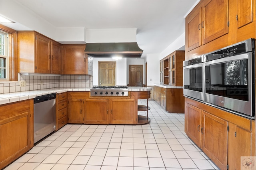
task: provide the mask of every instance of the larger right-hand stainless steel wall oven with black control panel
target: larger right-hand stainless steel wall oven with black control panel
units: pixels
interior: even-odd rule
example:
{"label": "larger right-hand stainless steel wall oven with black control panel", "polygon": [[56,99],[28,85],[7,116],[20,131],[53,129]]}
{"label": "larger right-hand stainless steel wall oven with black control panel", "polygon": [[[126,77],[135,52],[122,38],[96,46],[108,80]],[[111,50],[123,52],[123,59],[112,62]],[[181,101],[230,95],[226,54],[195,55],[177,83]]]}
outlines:
{"label": "larger right-hand stainless steel wall oven with black control panel", "polygon": [[213,51],[205,57],[205,103],[254,119],[254,39]]}

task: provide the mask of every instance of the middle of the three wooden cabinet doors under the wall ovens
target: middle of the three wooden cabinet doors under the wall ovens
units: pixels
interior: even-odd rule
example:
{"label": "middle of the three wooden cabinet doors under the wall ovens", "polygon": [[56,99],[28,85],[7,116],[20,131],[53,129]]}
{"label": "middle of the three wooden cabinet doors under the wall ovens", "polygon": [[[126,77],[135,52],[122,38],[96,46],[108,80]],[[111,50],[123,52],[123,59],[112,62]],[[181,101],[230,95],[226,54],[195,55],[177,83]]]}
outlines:
{"label": "middle of the three wooden cabinet doors under the wall ovens", "polygon": [[228,122],[202,111],[202,150],[222,170],[228,164]]}

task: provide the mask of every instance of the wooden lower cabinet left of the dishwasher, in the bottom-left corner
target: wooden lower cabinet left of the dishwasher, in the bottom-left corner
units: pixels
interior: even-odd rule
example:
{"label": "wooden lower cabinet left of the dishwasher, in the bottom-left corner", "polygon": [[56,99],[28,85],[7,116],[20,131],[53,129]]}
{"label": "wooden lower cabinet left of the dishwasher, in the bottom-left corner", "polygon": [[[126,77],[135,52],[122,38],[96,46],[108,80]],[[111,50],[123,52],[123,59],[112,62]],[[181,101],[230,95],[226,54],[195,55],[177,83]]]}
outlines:
{"label": "wooden lower cabinet left of the dishwasher, in the bottom-left corner", "polygon": [[33,99],[0,106],[0,169],[34,146]]}

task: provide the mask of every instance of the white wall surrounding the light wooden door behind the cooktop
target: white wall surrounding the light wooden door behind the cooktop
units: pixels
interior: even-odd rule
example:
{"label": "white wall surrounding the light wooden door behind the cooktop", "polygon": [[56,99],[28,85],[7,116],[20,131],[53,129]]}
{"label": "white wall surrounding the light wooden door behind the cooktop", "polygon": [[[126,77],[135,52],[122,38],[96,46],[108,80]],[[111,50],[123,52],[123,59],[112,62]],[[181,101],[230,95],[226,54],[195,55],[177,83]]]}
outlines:
{"label": "white wall surrounding the light wooden door behind the cooktop", "polygon": [[[116,61],[110,58],[93,58],[93,85],[98,86],[99,61]],[[122,58],[116,61],[116,85],[127,85],[127,59]]]}

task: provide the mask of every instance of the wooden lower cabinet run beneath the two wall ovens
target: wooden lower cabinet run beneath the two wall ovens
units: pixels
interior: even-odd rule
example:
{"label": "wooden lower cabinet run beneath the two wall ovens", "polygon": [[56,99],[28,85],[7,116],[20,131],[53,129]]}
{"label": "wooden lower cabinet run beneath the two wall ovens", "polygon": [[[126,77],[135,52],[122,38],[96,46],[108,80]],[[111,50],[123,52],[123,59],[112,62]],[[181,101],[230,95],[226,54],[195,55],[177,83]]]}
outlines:
{"label": "wooden lower cabinet run beneath the two wall ovens", "polygon": [[185,132],[221,170],[255,156],[255,121],[185,98]]}

